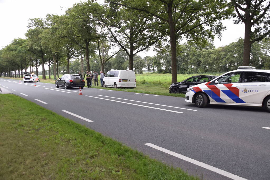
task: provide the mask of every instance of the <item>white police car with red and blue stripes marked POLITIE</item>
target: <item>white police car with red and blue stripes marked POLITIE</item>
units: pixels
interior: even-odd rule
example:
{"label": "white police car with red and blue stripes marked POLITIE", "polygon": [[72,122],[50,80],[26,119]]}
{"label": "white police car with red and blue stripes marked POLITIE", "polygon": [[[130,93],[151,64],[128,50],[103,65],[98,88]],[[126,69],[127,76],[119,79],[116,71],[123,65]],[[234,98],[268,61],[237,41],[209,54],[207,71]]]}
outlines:
{"label": "white police car with red and blue stripes marked POLITIE", "polygon": [[270,112],[270,70],[240,66],[187,89],[186,102],[203,108],[207,103],[265,107]]}

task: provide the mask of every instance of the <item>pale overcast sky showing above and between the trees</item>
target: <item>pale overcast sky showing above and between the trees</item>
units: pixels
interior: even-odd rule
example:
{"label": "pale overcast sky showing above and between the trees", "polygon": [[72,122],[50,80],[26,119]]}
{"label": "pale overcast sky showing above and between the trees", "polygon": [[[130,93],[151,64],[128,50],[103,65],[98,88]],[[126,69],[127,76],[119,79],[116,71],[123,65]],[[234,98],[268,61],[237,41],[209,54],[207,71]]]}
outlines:
{"label": "pale overcast sky showing above and between the trees", "polygon": [[[65,10],[79,0],[0,0],[0,49],[15,38],[25,39],[29,18],[45,18],[46,14],[64,14]],[[234,25],[232,20],[225,20],[227,30],[222,32],[221,40],[215,38],[215,47],[226,46],[239,37],[244,38],[244,25]],[[153,56],[153,52],[139,54]]]}

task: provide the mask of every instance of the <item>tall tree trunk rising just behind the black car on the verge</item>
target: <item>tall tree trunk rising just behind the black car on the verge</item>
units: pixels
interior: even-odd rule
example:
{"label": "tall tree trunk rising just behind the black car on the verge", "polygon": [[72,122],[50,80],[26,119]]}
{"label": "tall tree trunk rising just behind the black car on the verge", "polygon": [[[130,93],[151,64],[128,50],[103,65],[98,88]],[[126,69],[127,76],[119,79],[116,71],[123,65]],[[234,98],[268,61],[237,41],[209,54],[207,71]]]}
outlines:
{"label": "tall tree trunk rising just behind the black car on the verge", "polygon": [[173,22],[172,4],[168,4],[168,17],[170,27],[170,45],[171,45],[171,83],[177,82],[177,59],[176,59],[176,36],[175,25]]}

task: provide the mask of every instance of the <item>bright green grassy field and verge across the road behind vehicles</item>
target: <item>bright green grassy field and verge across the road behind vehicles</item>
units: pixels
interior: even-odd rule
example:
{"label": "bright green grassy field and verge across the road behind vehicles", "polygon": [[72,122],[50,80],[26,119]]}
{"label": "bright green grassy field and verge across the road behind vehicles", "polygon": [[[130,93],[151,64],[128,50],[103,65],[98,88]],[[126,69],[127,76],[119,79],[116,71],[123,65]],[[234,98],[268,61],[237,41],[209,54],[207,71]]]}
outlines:
{"label": "bright green grassy field and verge across the road behind vehicles", "polygon": [[[205,75],[221,75],[222,73],[205,73]],[[177,74],[178,82],[181,82],[191,76],[198,74]],[[62,76],[62,75],[60,75]],[[42,77],[42,76],[39,76]],[[53,76],[51,76],[53,78]],[[19,79],[21,78],[12,78]],[[40,79],[40,82],[47,82],[55,84],[55,80],[49,79],[49,75],[46,76],[46,79]],[[171,84],[171,74],[157,74],[157,73],[146,73],[146,74],[136,74],[136,88],[128,89],[114,89],[118,91],[128,91],[144,94],[156,94],[156,95],[165,95],[165,96],[176,96],[176,97],[185,97],[184,94],[170,94],[169,87]],[[93,86],[93,88],[99,89],[111,89],[111,88],[102,88],[100,86]]]}

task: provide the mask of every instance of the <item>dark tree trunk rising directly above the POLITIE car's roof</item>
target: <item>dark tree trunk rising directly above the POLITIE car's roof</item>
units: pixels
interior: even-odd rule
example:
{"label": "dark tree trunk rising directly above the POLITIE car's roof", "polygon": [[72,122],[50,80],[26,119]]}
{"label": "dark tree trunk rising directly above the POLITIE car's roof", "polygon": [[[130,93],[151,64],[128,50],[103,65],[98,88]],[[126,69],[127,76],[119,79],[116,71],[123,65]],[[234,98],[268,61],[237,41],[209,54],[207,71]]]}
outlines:
{"label": "dark tree trunk rising directly above the POLITIE car's roof", "polygon": [[245,22],[244,52],[243,66],[249,66],[250,50],[251,50],[251,22]]}

